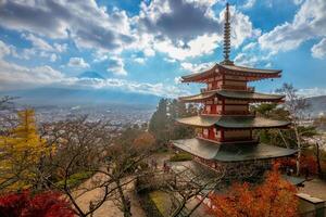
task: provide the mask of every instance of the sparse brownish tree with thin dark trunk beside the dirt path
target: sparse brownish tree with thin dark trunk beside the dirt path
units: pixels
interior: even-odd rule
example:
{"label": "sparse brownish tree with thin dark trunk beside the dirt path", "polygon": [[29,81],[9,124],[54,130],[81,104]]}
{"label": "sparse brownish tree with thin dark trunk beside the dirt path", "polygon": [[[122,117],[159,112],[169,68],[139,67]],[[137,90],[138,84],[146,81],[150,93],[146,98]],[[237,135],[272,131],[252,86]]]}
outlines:
{"label": "sparse brownish tree with thin dark trunk beside the dirt path", "polygon": [[[135,129],[134,129],[135,130]],[[137,129],[136,129],[137,130]],[[126,130],[130,132],[133,129]],[[130,139],[125,132],[116,139],[112,146],[108,146],[108,163],[103,167],[105,176],[113,182],[116,188],[112,192],[112,200],[115,205],[123,212],[124,217],[130,217],[130,201],[128,196],[128,186],[139,177],[146,176],[148,165],[145,161],[154,151],[154,138],[150,132],[140,131],[134,137],[133,142],[126,142]]]}

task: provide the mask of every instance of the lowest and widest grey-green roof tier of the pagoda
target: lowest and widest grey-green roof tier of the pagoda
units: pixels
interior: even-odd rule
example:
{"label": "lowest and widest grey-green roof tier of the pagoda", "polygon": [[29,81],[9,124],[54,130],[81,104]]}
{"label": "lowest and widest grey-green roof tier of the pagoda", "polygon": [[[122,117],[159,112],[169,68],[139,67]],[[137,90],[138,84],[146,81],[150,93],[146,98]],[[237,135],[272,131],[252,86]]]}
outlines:
{"label": "lowest and widest grey-green roof tier of the pagoda", "polygon": [[220,162],[243,162],[290,156],[297,150],[267,144],[216,144],[214,142],[195,139],[174,140],[172,143],[192,155]]}

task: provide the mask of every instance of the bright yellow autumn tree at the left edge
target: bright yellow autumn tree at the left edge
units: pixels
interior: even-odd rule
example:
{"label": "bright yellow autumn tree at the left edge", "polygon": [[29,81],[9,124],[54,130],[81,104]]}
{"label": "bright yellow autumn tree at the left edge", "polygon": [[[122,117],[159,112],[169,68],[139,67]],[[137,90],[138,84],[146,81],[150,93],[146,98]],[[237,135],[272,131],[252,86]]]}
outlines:
{"label": "bright yellow autumn tree at the left edge", "polygon": [[36,129],[33,110],[18,112],[20,124],[0,137],[0,188],[20,190],[38,183],[37,167],[52,151]]}

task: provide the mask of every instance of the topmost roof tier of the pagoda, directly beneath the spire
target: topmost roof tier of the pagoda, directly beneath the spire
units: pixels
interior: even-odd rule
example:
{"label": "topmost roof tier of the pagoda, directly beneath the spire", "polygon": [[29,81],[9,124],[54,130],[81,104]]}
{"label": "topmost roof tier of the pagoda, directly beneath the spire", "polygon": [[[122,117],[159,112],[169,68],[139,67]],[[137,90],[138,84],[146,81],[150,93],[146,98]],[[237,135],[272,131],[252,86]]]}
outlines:
{"label": "topmost roof tier of the pagoda, directly beneath the spire", "polygon": [[216,75],[234,75],[244,77],[247,81],[260,80],[264,78],[278,78],[281,71],[279,69],[261,69],[234,64],[215,64],[212,68],[181,76],[183,82],[205,82],[206,79]]}

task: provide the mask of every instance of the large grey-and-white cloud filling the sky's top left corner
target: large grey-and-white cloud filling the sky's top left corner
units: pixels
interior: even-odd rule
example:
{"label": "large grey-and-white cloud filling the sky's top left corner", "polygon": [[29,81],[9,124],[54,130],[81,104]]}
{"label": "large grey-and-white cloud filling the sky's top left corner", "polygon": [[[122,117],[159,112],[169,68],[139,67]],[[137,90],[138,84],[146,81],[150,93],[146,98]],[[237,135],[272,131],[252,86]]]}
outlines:
{"label": "large grey-and-white cloud filling the sky's top left corner", "polygon": [[[2,1],[0,25],[51,39],[73,39],[78,48],[121,50],[135,39],[124,11],[110,14],[96,1]],[[46,46],[43,41],[35,41]],[[41,42],[42,44],[40,44]]]}

